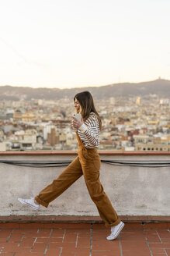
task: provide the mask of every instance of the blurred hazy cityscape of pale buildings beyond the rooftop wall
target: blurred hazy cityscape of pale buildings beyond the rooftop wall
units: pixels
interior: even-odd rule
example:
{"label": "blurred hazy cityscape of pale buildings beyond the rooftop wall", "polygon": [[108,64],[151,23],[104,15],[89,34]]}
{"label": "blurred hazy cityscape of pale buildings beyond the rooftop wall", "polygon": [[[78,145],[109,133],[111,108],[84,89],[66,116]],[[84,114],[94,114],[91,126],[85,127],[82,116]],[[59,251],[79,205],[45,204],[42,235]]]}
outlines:
{"label": "blurred hazy cityscape of pale buildings beyond the rooftop wall", "polygon": [[[95,100],[99,150],[170,151],[170,100],[158,94]],[[0,151],[77,150],[72,98],[0,101]]]}

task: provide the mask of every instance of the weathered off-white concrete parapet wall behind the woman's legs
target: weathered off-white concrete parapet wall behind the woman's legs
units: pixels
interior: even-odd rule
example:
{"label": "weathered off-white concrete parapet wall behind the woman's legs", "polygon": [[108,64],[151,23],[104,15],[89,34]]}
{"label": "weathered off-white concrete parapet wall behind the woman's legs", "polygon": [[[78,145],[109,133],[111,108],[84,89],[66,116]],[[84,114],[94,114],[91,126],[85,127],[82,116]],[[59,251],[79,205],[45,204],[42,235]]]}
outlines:
{"label": "weathered off-white concrete parapet wall behind the woman's legs", "polygon": [[[74,155],[0,155],[3,160],[71,160]],[[109,160],[169,160],[168,155],[102,155]],[[83,177],[49,208],[40,212],[19,204],[18,197],[33,197],[54,180],[62,168],[30,168],[0,163],[0,215],[98,215]],[[142,168],[102,163],[100,180],[118,215],[169,215],[170,168]]]}

